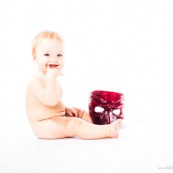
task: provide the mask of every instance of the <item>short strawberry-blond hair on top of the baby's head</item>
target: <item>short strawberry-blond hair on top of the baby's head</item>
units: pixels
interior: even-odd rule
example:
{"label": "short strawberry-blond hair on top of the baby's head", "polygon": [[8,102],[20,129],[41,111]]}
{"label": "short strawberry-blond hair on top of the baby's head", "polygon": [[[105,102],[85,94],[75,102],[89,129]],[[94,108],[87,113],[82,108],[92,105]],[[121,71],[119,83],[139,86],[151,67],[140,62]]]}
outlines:
{"label": "short strawberry-blond hair on top of the baby's head", "polygon": [[53,31],[40,32],[34,37],[32,41],[32,55],[33,56],[35,56],[37,45],[45,38],[57,39],[59,42],[63,41],[61,36],[56,32],[53,32]]}

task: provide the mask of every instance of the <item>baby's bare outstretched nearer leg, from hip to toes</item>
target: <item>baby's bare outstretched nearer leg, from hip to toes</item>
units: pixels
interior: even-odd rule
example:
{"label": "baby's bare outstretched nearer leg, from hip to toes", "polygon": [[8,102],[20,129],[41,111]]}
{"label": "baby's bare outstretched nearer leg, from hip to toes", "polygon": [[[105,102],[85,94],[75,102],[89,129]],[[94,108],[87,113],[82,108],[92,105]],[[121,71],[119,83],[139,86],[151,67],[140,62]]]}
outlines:
{"label": "baby's bare outstretched nearer leg, from hip to toes", "polygon": [[109,125],[94,125],[76,117],[54,117],[40,121],[34,131],[38,138],[58,139],[78,136],[82,139],[118,137],[120,121]]}

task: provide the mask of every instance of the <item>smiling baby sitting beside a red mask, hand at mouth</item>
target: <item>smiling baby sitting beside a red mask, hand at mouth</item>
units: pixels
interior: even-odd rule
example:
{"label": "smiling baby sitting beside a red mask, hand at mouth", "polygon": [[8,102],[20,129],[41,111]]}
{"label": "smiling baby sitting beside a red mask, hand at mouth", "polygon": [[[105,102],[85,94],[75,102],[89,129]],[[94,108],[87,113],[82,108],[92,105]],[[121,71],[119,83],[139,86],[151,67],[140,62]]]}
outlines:
{"label": "smiling baby sitting beside a red mask, hand at mouth", "polygon": [[38,71],[26,90],[26,113],[40,139],[80,137],[117,138],[121,119],[109,125],[95,125],[90,115],[65,107],[58,78],[64,66],[63,40],[55,32],[41,32],[33,40],[32,56]]}

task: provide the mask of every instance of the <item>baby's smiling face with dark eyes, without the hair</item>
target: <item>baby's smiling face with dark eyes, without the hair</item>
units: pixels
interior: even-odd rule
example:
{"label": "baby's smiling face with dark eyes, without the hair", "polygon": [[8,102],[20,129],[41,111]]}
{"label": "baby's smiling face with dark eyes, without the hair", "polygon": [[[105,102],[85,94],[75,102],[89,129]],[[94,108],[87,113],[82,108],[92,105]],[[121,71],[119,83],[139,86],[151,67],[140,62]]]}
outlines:
{"label": "baby's smiling face with dark eyes, without the hair", "polygon": [[43,73],[46,73],[48,68],[62,70],[64,66],[63,44],[56,39],[43,39],[37,45],[34,60]]}

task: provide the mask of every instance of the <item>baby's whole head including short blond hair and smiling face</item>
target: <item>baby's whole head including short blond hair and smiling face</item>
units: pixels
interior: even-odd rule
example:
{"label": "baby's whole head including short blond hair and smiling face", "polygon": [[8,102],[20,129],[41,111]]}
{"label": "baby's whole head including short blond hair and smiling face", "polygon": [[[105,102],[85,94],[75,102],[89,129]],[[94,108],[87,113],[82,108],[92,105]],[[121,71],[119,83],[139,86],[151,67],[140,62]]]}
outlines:
{"label": "baby's whole head including short blond hair and smiling face", "polygon": [[64,66],[63,41],[56,32],[41,32],[33,39],[32,56],[42,72]]}

